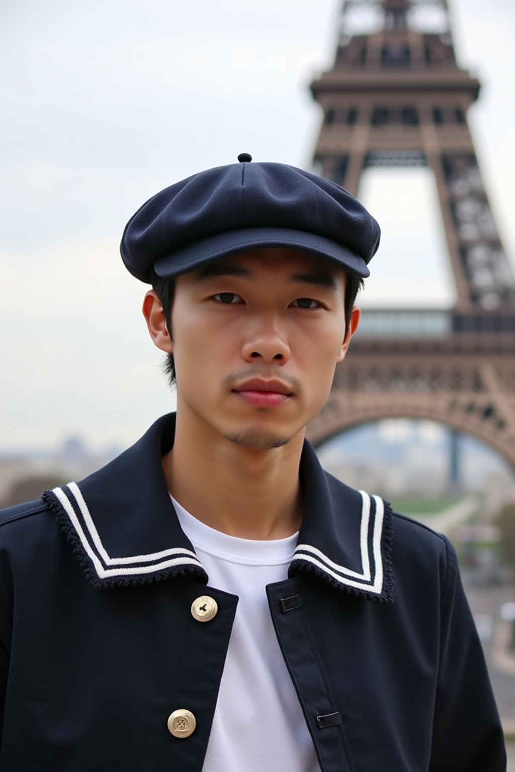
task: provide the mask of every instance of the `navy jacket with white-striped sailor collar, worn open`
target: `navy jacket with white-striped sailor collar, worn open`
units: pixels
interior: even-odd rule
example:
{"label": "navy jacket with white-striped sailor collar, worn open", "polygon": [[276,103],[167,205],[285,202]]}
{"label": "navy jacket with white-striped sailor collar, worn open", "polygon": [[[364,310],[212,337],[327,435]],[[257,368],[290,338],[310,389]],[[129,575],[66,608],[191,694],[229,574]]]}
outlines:
{"label": "navy jacket with white-striped sailor collar, worn open", "polygon": [[[173,436],[165,416],[78,485],[0,513],[0,772],[202,770],[238,598],[206,587],[178,525]],[[328,475],[309,443],[300,475],[299,544],[266,592],[321,770],[505,770],[449,542]],[[202,624],[201,595],[218,604]],[[195,715],[187,738],[175,709]]]}

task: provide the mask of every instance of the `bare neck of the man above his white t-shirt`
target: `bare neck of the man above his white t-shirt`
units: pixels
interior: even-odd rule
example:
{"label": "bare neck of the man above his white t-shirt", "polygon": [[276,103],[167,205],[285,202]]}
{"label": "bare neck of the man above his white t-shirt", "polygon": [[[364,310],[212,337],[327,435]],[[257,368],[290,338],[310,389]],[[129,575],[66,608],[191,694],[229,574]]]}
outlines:
{"label": "bare neck of the man above his white t-shirt", "polygon": [[303,432],[281,448],[256,450],[188,424],[178,416],[174,446],[163,458],[168,490],[185,510],[242,539],[282,539],[299,530]]}

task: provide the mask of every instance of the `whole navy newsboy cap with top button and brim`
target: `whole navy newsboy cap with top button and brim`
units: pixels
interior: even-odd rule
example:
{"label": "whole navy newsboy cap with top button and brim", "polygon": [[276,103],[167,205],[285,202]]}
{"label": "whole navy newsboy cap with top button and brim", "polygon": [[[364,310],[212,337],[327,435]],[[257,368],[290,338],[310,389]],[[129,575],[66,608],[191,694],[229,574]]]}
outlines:
{"label": "whole navy newsboy cap with top button and brim", "polygon": [[257,247],[290,247],[369,276],[378,223],[334,182],[286,164],[201,171],[152,196],[127,223],[120,252],[137,279],[179,276],[213,259]]}

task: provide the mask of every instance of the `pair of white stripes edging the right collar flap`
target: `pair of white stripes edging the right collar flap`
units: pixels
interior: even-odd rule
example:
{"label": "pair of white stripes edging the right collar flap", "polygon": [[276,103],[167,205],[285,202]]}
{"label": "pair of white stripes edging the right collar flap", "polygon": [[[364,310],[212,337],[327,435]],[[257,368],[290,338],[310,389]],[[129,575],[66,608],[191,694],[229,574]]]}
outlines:
{"label": "pair of white stripes edging the right collar flap", "polygon": [[361,573],[351,571],[350,568],[341,566],[330,560],[317,547],[310,544],[298,544],[293,554],[294,560],[303,560],[313,564],[313,566],[324,571],[325,574],[335,579],[340,584],[347,587],[353,587],[356,590],[371,592],[377,595],[381,594],[383,589],[383,560],[381,555],[381,536],[383,531],[383,520],[385,516],[385,505],[379,496],[374,496],[375,515],[374,530],[372,535],[372,557],[374,558],[374,576],[371,575],[371,554],[368,543],[368,530],[371,515],[371,499],[368,493],[360,491],[363,505],[361,508],[361,527],[360,527],[360,552],[361,552]]}

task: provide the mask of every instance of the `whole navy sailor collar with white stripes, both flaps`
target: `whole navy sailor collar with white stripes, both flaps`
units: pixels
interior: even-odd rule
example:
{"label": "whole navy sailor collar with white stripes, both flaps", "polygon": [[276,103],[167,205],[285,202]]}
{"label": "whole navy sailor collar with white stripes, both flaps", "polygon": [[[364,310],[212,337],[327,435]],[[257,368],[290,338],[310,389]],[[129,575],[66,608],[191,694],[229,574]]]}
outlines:
{"label": "whole navy sailor collar with white stripes, both flaps", "polygon": [[[103,469],[43,494],[93,586],[146,584],[180,574],[208,583],[162,472],[174,430],[175,415],[164,415]],[[340,590],[393,601],[388,503],[324,472],[307,441],[300,480],[304,515],[289,577],[310,571]]]}

